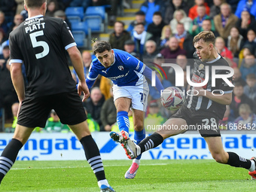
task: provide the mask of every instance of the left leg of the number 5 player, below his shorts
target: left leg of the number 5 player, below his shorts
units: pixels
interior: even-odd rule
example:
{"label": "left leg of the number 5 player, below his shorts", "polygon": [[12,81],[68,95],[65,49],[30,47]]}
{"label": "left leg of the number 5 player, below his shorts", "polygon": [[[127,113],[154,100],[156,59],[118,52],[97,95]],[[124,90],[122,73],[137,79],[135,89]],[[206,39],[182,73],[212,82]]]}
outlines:
{"label": "left leg of the number 5 player, below his shorts", "polygon": [[33,128],[20,126],[17,124],[13,139],[11,139],[11,142],[8,143],[0,157],[0,183],[7,172],[11,169],[11,166],[14,165],[20,148],[22,148],[26,141],[29,139],[29,136],[33,130]]}

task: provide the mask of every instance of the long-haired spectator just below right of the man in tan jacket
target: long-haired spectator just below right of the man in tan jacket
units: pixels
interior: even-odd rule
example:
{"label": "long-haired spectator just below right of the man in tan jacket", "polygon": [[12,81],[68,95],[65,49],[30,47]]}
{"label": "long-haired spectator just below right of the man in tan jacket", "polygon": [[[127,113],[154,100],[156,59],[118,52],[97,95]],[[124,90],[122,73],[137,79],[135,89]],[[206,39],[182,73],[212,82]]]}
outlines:
{"label": "long-haired spectator just below right of the man in tan jacket", "polygon": [[230,29],[230,35],[227,37],[227,49],[231,50],[235,58],[239,57],[239,51],[242,49],[244,44],[244,39],[242,35],[239,34],[239,29],[233,26]]}

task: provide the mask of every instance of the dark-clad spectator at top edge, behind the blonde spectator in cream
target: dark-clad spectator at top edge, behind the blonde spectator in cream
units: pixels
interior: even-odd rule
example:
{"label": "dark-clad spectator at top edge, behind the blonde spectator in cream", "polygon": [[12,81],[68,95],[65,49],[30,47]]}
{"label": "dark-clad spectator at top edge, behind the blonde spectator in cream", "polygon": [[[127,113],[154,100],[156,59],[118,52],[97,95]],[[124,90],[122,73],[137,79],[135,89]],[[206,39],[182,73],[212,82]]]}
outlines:
{"label": "dark-clad spectator at top edge, behind the blonde spectator in cream", "polygon": [[166,5],[166,14],[165,14],[165,17],[164,17],[164,22],[165,23],[170,23],[170,21],[174,17],[173,13],[177,10],[182,10],[187,15],[188,11],[189,11],[187,3],[184,2],[183,0],[171,0],[171,1],[169,1]]}

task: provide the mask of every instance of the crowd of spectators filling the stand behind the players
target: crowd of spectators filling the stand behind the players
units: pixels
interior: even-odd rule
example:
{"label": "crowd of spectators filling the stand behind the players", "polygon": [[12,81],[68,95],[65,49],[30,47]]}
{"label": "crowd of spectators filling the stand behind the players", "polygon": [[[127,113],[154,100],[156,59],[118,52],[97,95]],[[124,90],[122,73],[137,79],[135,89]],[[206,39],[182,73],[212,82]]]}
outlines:
{"label": "crowd of spectators filling the stand behind the players", "polygon": [[[112,48],[125,50],[141,59],[154,63],[175,62],[186,74],[186,66],[193,69],[193,38],[199,32],[212,30],[216,36],[215,47],[234,69],[233,100],[221,121],[223,129],[243,125],[243,130],[256,128],[256,1],[255,0],[146,0],[135,13],[136,20],[125,29],[125,23],[117,19],[117,0],[49,0],[47,13],[49,17],[62,17],[72,29],[72,22],[66,17],[68,7],[111,5],[108,24],[114,26],[109,34]],[[123,5],[126,1],[122,2]],[[126,5],[128,6],[128,5]],[[129,5],[130,6],[130,5]],[[0,108],[5,108],[5,120],[12,123],[12,131],[17,121],[18,99],[11,83],[8,35],[16,29],[27,13],[23,0],[0,1]],[[87,76],[90,63],[95,56],[90,50],[81,50],[84,62],[84,74]],[[151,60],[150,60],[151,59]],[[166,70],[167,79],[160,78],[163,87],[175,86],[175,72]],[[160,75],[160,74],[158,74]],[[23,69],[26,82],[26,72]],[[78,78],[72,70],[75,81]],[[185,75],[184,75],[185,77]],[[185,81],[186,82],[186,81]],[[90,131],[118,130],[117,112],[113,102],[111,81],[98,78],[90,90],[90,98],[84,102]],[[150,99],[145,117],[145,125],[161,124],[173,111],[167,111],[160,105],[160,93],[150,87]],[[187,90],[187,86],[180,87]],[[130,116],[130,121],[133,117]],[[130,123],[131,125],[133,123]],[[250,126],[250,127],[248,127]],[[147,129],[147,127],[145,127]],[[55,111],[51,111],[45,129],[41,132],[67,132],[69,128],[62,125]],[[133,130],[133,129],[130,129]]]}

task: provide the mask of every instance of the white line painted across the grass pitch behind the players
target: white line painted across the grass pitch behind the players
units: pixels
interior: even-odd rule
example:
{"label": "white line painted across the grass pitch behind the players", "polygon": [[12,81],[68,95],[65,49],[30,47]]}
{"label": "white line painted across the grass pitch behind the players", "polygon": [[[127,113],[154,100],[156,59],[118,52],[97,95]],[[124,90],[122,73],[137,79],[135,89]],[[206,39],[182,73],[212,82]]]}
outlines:
{"label": "white line painted across the grass pitch behind the players", "polygon": [[[169,163],[155,163],[155,164],[141,164],[139,166],[166,166]],[[106,166],[129,166],[129,165],[104,165]],[[26,167],[26,168],[12,168],[11,170],[23,170],[23,169],[74,169],[74,168],[86,168],[90,166],[53,166],[53,167]]]}

